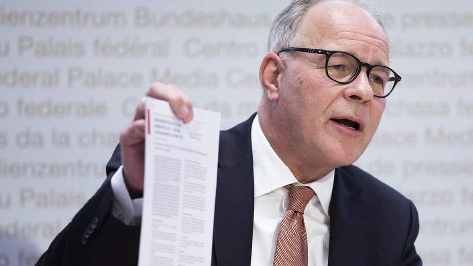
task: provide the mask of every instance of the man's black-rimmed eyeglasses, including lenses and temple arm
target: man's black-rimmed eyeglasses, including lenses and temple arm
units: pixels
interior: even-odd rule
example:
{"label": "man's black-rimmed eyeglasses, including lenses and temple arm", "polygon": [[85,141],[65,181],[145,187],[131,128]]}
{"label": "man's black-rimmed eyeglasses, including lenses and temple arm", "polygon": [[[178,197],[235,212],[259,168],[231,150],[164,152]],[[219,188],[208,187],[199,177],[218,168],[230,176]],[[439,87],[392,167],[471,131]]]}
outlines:
{"label": "man's black-rimmed eyeglasses, including lenses and temple arm", "polygon": [[396,84],[401,81],[401,76],[387,66],[370,65],[361,62],[354,55],[341,51],[327,51],[313,48],[284,47],[277,55],[284,51],[298,51],[312,54],[325,55],[325,73],[331,80],[348,84],[360,74],[361,67],[366,66],[366,75],[373,90],[374,96],[387,97]]}

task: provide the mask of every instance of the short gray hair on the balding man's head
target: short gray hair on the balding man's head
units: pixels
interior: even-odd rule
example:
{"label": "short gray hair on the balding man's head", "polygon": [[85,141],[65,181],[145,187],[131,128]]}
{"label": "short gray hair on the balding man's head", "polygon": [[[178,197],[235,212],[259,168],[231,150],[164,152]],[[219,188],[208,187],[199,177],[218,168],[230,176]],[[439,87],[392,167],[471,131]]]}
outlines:
{"label": "short gray hair on the balding man's head", "polygon": [[[292,3],[284,8],[274,19],[270,36],[268,38],[268,51],[277,53],[281,48],[287,46],[301,46],[302,41],[297,36],[297,30],[301,19],[307,10],[312,6],[327,0],[293,0]],[[379,23],[383,31],[384,26],[381,23],[382,9],[372,0],[346,0],[351,2],[369,14],[371,14]]]}

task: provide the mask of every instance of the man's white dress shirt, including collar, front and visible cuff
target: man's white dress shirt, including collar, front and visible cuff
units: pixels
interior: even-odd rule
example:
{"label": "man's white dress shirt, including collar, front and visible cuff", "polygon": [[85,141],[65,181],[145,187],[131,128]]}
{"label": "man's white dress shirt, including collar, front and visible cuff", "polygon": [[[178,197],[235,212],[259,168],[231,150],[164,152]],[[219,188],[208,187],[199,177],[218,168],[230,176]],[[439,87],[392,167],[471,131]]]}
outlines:
{"label": "man's white dress shirt, including collar, front and visible cuff", "polygon": [[[288,201],[283,186],[298,183],[289,168],[281,161],[261,131],[258,116],[251,129],[253,169],[255,181],[255,208],[252,266],[272,266],[277,233]],[[315,191],[304,211],[310,266],[327,266],[329,254],[328,208],[332,196],[334,171],[305,186]],[[111,179],[112,214],[127,225],[139,225],[142,216],[142,199],[131,199],[123,180],[122,167]]]}

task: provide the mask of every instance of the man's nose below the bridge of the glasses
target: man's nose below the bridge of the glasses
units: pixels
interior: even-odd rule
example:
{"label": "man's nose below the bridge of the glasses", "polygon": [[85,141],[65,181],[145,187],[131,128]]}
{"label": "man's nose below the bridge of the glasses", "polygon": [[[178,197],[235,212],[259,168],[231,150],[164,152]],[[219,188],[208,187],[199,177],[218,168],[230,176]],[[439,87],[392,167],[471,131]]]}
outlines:
{"label": "man's nose below the bridge of the glasses", "polygon": [[368,81],[366,67],[362,67],[358,76],[352,82],[347,84],[343,92],[345,98],[355,100],[360,103],[369,102],[374,98],[374,92]]}

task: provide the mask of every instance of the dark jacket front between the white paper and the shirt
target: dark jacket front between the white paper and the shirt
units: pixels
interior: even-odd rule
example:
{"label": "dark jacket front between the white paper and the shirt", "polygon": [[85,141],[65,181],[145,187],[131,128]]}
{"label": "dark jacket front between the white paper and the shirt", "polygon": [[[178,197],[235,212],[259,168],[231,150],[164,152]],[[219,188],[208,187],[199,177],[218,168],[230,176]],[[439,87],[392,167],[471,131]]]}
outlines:
{"label": "dark jacket front between the white paper and the shirt", "polygon": [[251,116],[220,133],[215,199],[214,254],[219,266],[250,265],[253,238],[254,180]]}

